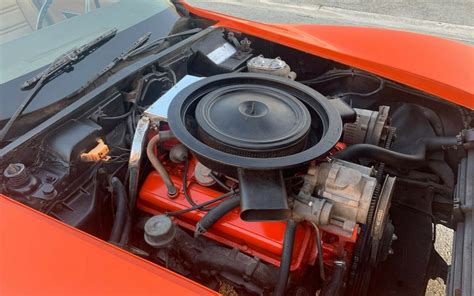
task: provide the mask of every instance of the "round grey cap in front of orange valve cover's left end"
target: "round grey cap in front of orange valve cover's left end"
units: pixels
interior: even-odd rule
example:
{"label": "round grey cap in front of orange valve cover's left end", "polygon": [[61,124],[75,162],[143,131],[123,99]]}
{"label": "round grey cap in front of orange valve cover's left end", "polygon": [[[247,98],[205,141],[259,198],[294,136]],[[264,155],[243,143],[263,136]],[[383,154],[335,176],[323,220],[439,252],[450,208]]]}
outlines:
{"label": "round grey cap in front of orange valve cover's left end", "polygon": [[166,215],[153,216],[145,223],[145,241],[152,247],[161,248],[171,243],[176,226]]}

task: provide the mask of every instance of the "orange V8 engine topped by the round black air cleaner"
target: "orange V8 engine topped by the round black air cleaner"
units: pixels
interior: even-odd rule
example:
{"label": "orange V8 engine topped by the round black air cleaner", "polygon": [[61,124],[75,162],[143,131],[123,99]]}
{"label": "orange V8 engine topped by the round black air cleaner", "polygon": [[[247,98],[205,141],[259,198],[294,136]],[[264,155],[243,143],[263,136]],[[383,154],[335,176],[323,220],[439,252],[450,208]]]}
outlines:
{"label": "orange V8 engine topped by the round black air cleaner", "polygon": [[[166,116],[157,106],[146,111],[155,133],[147,152],[156,171],[146,177],[138,207],[153,215],[144,240],[156,260],[263,295],[286,286],[288,275],[279,268],[287,269],[290,287],[315,269],[322,278],[332,275],[328,291],[339,289],[334,274],[349,272],[367,233],[376,234],[366,242],[373,246],[371,260],[386,258],[395,237],[388,217],[394,178],[338,159],[347,118],[337,108],[350,107],[276,76],[182,81],[179,91],[155,103],[169,104]],[[389,144],[386,117],[346,128],[359,128],[354,133],[362,140],[378,132],[377,143]]]}

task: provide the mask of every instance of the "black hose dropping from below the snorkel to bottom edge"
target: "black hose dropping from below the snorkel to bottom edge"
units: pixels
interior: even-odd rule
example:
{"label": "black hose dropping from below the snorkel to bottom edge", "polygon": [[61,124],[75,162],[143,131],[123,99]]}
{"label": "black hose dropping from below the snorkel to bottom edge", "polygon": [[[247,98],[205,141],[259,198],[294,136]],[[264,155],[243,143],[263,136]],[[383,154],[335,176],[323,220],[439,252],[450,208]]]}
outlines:
{"label": "black hose dropping from below the snorkel to bottom edge", "polygon": [[283,242],[283,251],[281,254],[280,270],[278,271],[278,282],[273,291],[273,296],[283,296],[286,292],[286,285],[290,276],[291,257],[293,255],[293,243],[295,241],[297,223],[294,220],[288,220],[285,230],[285,241]]}

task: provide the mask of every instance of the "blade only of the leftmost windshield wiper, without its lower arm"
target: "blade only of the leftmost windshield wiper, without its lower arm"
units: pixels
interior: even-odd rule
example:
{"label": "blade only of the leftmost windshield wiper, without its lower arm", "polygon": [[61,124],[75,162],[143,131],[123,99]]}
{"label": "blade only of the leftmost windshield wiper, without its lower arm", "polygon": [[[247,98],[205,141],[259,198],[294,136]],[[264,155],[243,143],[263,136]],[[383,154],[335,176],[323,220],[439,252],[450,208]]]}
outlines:
{"label": "blade only of the leftmost windshield wiper, without its lower arm", "polygon": [[94,40],[89,41],[80,47],[73,48],[66,53],[63,53],[56,60],[54,60],[54,62],[51,63],[51,65],[45,71],[25,81],[21,86],[21,89],[29,89],[35,86],[41,80],[41,78],[46,77],[46,79],[48,79],[61,71],[67,70],[73,64],[82,60],[84,57],[96,50],[99,46],[110,40],[115,36],[115,34],[117,34],[117,29],[113,28]]}

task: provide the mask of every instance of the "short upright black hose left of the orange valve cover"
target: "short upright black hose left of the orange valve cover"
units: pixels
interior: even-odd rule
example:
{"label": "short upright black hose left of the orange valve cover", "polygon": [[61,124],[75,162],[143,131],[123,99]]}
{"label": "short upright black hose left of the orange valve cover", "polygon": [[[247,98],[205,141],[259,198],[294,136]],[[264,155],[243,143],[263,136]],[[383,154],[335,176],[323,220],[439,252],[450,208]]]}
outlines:
{"label": "short upright black hose left of the orange valve cover", "polygon": [[115,211],[115,218],[112,231],[110,233],[109,242],[119,243],[125,222],[127,220],[127,191],[125,190],[123,183],[117,177],[113,177],[110,181],[110,184],[112,185],[112,190],[115,195],[115,204],[117,206],[117,210]]}

